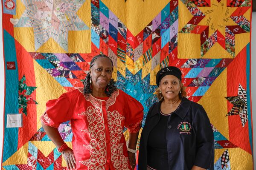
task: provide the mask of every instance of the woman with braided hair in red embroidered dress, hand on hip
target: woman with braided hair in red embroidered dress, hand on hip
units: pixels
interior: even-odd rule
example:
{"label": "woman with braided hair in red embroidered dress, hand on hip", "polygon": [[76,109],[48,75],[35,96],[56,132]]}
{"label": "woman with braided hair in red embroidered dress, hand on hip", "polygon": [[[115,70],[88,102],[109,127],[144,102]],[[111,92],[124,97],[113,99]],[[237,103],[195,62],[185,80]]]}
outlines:
{"label": "woman with braided hair in red embroidered dress, hand on hip", "polygon": [[[67,162],[76,170],[131,170],[135,167],[137,138],[143,119],[143,106],[116,88],[113,62],[99,54],[90,62],[84,88],[49,100],[41,116],[42,126]],[[70,120],[72,148],[58,132]],[[129,131],[126,146],[123,128]]]}

